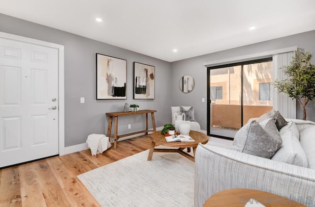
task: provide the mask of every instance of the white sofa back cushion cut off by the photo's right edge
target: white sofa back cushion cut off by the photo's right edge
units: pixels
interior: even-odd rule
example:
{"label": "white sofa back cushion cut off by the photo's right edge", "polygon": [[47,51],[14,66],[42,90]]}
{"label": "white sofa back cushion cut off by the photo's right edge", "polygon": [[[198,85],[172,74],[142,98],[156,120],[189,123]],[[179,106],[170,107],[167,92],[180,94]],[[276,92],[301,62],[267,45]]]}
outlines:
{"label": "white sofa back cushion cut off by the photo's right edge", "polygon": [[300,143],[307,156],[308,168],[315,169],[315,125],[301,124],[298,126],[300,129]]}

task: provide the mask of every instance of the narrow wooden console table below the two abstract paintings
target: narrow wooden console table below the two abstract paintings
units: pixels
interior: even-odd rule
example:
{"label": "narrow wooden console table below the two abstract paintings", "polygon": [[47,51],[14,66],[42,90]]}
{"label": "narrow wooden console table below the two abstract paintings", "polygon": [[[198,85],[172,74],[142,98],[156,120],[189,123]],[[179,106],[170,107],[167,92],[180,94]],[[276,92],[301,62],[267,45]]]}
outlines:
{"label": "narrow wooden console table below the two abstract paintings", "polygon": [[[125,137],[125,136],[130,136],[134,134],[139,134],[139,133],[146,133],[148,134],[149,131],[157,131],[156,129],[156,121],[154,119],[154,112],[157,112],[157,110],[139,110],[139,111],[129,111],[129,112],[109,112],[106,113],[107,116],[109,116],[108,119],[108,128],[107,128],[107,136],[110,136],[110,132],[112,129],[112,123],[113,123],[113,117],[115,118],[115,130],[114,130],[114,149],[117,148],[117,140],[119,138]],[[148,113],[151,113],[151,118],[152,118],[152,129],[148,129]],[[127,134],[122,134],[122,135],[117,135],[118,134],[118,117],[119,116],[127,116],[127,115],[135,115],[135,114],[146,114],[146,129],[142,131],[136,131],[132,133],[127,133]]]}

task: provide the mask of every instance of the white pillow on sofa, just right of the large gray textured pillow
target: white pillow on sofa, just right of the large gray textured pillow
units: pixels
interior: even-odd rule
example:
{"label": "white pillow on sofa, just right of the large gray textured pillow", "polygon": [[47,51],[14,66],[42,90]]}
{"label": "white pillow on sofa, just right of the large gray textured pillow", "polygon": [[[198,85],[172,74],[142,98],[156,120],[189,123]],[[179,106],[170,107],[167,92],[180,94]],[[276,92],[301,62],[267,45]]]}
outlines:
{"label": "white pillow on sofa, just right of the large gray textured pillow", "polygon": [[289,122],[280,130],[282,146],[271,159],[292,165],[308,167],[308,158],[300,144],[296,130],[297,127],[295,123],[293,124],[292,122]]}

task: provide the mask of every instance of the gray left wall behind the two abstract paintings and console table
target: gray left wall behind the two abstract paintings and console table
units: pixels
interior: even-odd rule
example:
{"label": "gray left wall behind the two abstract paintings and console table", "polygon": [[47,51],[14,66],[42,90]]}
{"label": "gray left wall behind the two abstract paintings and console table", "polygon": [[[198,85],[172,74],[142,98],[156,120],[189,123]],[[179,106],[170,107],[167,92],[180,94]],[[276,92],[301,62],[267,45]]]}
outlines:
{"label": "gray left wall behind the two abstract paintings and console table", "polygon": [[[92,133],[107,132],[106,112],[122,111],[125,103],[138,103],[142,109],[156,109],[157,127],[171,120],[169,91],[171,64],[153,57],[0,14],[0,31],[64,46],[65,147],[85,143]],[[95,53],[127,60],[127,100],[96,101]],[[133,62],[156,68],[155,100],[133,100]],[[80,103],[85,97],[85,103]],[[119,119],[119,134],[145,129],[145,115]],[[149,115],[150,118],[150,115]],[[131,124],[131,129],[127,125]],[[149,128],[152,128],[149,120]]]}

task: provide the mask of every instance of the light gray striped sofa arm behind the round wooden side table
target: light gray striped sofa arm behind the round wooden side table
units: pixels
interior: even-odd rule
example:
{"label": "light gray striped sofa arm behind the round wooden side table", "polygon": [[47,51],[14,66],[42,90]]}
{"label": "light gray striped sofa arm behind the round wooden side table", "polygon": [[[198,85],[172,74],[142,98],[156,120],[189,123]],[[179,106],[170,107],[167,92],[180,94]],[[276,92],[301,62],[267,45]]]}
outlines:
{"label": "light gray striped sofa arm behind the round wooden side table", "polygon": [[194,205],[230,188],[274,193],[315,205],[315,170],[229,149],[199,144],[195,154]]}

